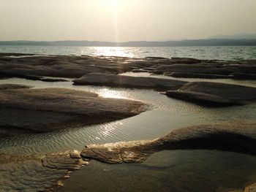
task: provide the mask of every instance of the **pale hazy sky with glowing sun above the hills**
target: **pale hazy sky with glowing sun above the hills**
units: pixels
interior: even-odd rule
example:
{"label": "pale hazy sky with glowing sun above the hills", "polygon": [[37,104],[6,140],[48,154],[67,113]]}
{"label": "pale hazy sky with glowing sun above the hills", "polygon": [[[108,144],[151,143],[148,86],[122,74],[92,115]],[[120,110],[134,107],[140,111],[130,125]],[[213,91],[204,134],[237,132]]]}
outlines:
{"label": "pale hazy sky with glowing sun above the hills", "polygon": [[0,0],[0,40],[166,40],[256,34],[256,0]]}

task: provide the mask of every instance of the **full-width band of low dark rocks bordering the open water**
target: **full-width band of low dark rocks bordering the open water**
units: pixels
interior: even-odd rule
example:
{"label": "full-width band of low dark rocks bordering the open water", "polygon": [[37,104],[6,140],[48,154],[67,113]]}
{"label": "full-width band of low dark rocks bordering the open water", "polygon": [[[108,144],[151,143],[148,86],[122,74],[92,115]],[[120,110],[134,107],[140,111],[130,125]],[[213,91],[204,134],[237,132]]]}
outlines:
{"label": "full-width band of low dark rocks bordering the open water", "polygon": [[173,77],[255,80],[256,62],[0,53],[0,77],[45,80],[43,77],[79,78],[93,72],[120,74],[132,71]]}

